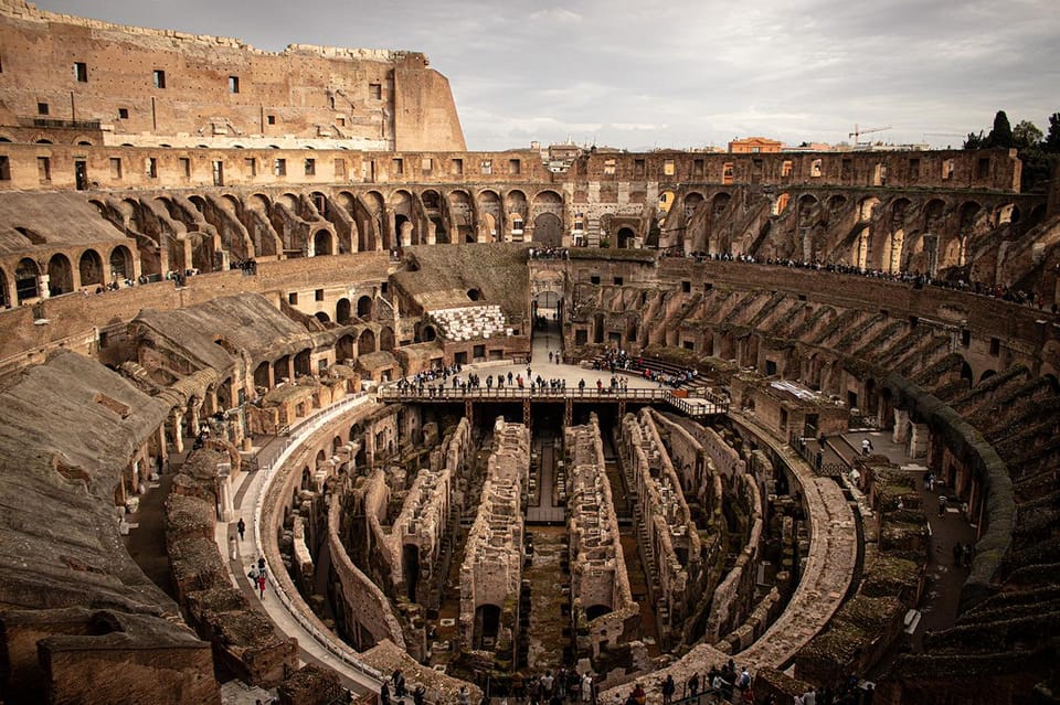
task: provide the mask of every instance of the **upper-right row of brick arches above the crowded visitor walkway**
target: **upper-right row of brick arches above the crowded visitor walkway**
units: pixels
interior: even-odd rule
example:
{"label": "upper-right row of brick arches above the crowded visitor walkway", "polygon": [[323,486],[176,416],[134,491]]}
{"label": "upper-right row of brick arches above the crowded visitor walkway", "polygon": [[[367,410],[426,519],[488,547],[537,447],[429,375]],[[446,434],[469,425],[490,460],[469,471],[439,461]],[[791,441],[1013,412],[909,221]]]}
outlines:
{"label": "upper-right row of brick arches above the crowded visitor walkway", "polygon": [[[781,192],[756,197],[719,190],[676,197],[683,207],[669,210],[662,247],[930,275],[965,266],[976,239],[1046,215],[1045,204],[1037,203],[1024,218],[1011,196]],[[748,217],[749,211],[756,217]]]}

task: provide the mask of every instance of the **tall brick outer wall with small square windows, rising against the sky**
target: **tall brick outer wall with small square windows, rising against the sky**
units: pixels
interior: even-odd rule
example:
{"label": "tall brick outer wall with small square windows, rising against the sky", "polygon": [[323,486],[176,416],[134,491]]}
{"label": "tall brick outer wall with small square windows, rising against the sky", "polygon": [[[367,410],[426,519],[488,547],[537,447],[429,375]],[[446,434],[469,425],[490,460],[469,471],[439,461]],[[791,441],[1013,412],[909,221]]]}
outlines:
{"label": "tall brick outer wall with small square windows, rising against the sky", "polygon": [[273,53],[18,0],[0,6],[0,99],[24,127],[62,120],[113,143],[147,133],[147,143],[230,147],[300,139],[393,149],[409,133],[420,149],[464,149],[448,83],[423,54],[311,45]]}

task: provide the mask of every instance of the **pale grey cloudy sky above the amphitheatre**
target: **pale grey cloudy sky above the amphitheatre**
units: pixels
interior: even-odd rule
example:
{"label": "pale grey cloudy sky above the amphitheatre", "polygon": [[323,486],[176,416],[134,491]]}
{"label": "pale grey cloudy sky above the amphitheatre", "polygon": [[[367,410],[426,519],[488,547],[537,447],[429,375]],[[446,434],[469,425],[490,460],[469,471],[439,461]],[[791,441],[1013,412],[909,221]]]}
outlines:
{"label": "pale grey cloudy sky above the amphitheatre", "polygon": [[38,0],[236,36],[425,52],[468,149],[862,139],[958,147],[1060,111],[1057,0]]}

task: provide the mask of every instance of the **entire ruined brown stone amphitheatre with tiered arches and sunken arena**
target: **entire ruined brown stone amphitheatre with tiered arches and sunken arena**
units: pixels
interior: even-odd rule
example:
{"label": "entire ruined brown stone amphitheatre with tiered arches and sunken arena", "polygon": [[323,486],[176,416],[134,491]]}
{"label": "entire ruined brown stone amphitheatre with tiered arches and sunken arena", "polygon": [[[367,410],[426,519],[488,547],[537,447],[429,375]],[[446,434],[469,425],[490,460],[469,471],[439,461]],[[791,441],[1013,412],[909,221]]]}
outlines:
{"label": "entire ruined brown stone amphitheatre with tiered arches and sunken arena", "polygon": [[22,0],[0,62],[0,701],[1058,702],[1015,150],[554,170],[423,54]]}

